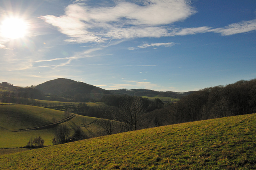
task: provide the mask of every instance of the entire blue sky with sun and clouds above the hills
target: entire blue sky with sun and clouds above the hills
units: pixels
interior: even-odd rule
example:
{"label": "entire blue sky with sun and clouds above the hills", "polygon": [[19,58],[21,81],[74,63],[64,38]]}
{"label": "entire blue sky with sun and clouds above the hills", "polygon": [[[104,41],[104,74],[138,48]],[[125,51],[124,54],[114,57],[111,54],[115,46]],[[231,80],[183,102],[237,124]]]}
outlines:
{"label": "entire blue sky with sun and clouds above the hills", "polygon": [[0,0],[0,81],[193,91],[256,77],[256,0]]}

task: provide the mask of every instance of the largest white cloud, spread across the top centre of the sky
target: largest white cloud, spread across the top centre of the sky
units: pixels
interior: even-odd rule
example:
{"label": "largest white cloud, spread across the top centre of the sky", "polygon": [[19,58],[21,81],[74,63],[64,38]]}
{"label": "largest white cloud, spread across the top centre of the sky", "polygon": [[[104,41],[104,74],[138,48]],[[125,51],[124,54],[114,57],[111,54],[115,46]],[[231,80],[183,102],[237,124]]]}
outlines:
{"label": "largest white cloud, spread across the top centre of the sky", "polygon": [[94,8],[76,0],[66,7],[65,15],[41,18],[69,36],[66,42],[86,43],[105,42],[113,38],[170,36],[167,24],[184,20],[195,13],[187,0],[145,2],[138,5],[116,1],[115,6]]}

